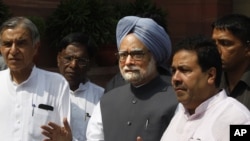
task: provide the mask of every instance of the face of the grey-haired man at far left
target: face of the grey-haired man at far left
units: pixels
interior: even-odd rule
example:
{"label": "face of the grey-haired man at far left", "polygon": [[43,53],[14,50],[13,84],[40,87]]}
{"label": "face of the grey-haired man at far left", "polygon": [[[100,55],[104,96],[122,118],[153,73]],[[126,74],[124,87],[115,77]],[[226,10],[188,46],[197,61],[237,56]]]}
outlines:
{"label": "face of the grey-haired man at far left", "polygon": [[5,29],[1,35],[1,53],[12,72],[26,72],[33,67],[39,43],[33,43],[30,32],[22,27]]}

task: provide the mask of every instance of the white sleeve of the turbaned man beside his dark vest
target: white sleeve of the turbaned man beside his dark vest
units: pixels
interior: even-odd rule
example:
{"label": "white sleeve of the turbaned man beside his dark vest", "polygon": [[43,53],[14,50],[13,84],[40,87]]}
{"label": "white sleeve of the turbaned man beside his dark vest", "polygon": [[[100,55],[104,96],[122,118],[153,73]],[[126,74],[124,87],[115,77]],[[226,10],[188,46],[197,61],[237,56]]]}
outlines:
{"label": "white sleeve of the turbaned man beside his dark vest", "polygon": [[87,127],[87,141],[104,141],[100,102],[95,106]]}

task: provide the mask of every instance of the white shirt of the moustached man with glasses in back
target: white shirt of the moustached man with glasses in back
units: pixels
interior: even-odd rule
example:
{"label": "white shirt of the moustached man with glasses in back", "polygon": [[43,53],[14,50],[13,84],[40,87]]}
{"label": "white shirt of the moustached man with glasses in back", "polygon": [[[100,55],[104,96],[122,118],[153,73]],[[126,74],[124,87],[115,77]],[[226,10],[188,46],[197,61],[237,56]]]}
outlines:
{"label": "white shirt of the moustached man with glasses in back", "polygon": [[75,91],[70,91],[71,130],[75,140],[86,140],[86,128],[95,105],[104,93],[102,87],[90,81],[80,84]]}

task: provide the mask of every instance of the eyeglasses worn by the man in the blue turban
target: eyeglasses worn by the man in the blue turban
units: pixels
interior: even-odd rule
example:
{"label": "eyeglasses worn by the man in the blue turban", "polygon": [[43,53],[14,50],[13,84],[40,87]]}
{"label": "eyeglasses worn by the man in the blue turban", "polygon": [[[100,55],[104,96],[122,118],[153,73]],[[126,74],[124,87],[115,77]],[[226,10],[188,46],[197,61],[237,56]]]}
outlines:
{"label": "eyeglasses worn by the man in the blue turban", "polygon": [[[148,51],[147,51],[148,52]],[[142,50],[138,50],[138,51],[131,51],[131,52],[127,52],[127,51],[119,51],[117,52],[115,55],[117,56],[117,58],[124,62],[128,55],[131,56],[131,58],[134,60],[134,61],[141,61],[143,60],[144,58],[144,55],[147,53],[145,51],[142,51]]]}

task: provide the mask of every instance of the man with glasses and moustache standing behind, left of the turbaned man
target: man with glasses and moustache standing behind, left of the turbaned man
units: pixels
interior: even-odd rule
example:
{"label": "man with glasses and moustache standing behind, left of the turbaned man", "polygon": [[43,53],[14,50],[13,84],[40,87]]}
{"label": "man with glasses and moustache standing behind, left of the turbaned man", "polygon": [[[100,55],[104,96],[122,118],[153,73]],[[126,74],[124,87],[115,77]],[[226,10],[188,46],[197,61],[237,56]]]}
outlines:
{"label": "man with glasses and moustache standing behind, left of the turbaned man", "polygon": [[89,118],[104,93],[102,87],[92,83],[87,77],[90,59],[93,57],[93,49],[88,43],[88,37],[83,33],[71,33],[59,43],[57,55],[59,71],[70,86],[70,125],[73,140],[78,141],[86,140]]}

